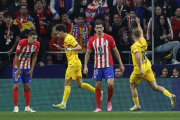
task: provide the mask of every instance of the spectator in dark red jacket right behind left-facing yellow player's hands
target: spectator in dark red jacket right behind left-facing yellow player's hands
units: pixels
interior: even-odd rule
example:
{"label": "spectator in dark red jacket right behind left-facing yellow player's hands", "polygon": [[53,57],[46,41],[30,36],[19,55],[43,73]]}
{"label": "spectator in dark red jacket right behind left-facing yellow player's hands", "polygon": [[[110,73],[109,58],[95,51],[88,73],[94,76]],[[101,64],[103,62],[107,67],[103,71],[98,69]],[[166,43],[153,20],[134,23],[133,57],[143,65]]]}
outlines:
{"label": "spectator in dark red jacket right behind left-facing yellow player's hands", "polygon": [[[57,37],[55,29],[56,29],[56,26],[54,26],[52,29],[52,34],[51,34],[52,38],[49,43],[50,51],[59,51],[59,49],[55,47],[54,44],[57,44],[61,47],[63,47],[64,45],[64,40]],[[66,61],[65,53],[52,53],[51,55],[52,55],[53,64],[65,64],[65,61]]]}

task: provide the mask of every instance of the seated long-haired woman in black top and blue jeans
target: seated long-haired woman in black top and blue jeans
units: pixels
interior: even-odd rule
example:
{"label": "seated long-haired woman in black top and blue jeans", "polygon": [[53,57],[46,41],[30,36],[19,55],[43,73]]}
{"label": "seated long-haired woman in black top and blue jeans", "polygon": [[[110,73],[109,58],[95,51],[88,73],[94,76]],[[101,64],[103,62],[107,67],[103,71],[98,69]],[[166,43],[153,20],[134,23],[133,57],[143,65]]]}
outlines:
{"label": "seated long-haired woman in black top and blue jeans", "polygon": [[167,17],[166,15],[160,15],[157,18],[157,25],[154,30],[154,41],[155,41],[155,52],[157,53],[164,53],[167,51],[173,51],[173,56],[172,56],[172,64],[180,64],[176,60],[177,52],[179,49],[179,42],[178,41],[173,41],[170,42],[170,38],[172,34],[169,34],[169,28],[168,28],[168,22],[167,22]]}

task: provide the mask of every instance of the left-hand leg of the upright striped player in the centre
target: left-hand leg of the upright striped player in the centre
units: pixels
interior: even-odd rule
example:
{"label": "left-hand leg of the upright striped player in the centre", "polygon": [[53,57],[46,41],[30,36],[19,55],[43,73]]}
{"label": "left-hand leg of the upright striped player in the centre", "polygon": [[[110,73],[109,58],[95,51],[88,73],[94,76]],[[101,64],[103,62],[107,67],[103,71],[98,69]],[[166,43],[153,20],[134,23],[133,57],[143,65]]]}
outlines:
{"label": "left-hand leg of the upright striped player in the centre", "polygon": [[101,110],[101,81],[102,81],[102,69],[94,68],[93,80],[95,80],[95,98],[97,108],[94,112],[102,112]]}

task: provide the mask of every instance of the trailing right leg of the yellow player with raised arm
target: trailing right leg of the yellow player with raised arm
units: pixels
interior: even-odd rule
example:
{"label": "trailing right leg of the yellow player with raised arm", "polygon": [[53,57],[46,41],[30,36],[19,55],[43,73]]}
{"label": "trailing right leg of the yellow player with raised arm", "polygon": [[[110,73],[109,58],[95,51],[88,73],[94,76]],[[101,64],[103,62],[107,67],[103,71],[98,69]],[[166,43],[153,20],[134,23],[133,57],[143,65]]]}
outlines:
{"label": "trailing right leg of the yellow player with raised arm", "polygon": [[144,77],[152,90],[159,91],[163,93],[165,96],[169,97],[171,100],[172,108],[176,106],[176,96],[174,94],[171,94],[164,87],[157,85],[152,69],[149,69]]}

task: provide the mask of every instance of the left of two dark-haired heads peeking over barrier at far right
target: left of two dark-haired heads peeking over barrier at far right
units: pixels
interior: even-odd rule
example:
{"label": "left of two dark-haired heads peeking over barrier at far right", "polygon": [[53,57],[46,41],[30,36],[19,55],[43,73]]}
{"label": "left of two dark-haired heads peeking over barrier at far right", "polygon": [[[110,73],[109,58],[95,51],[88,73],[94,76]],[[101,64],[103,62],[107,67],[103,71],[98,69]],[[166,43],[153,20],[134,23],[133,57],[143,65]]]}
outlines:
{"label": "left of two dark-haired heads peeking over barrier at far right", "polygon": [[171,76],[171,71],[169,69],[168,66],[164,66],[161,70],[161,72],[159,73],[159,77],[163,77],[163,78],[170,78]]}

